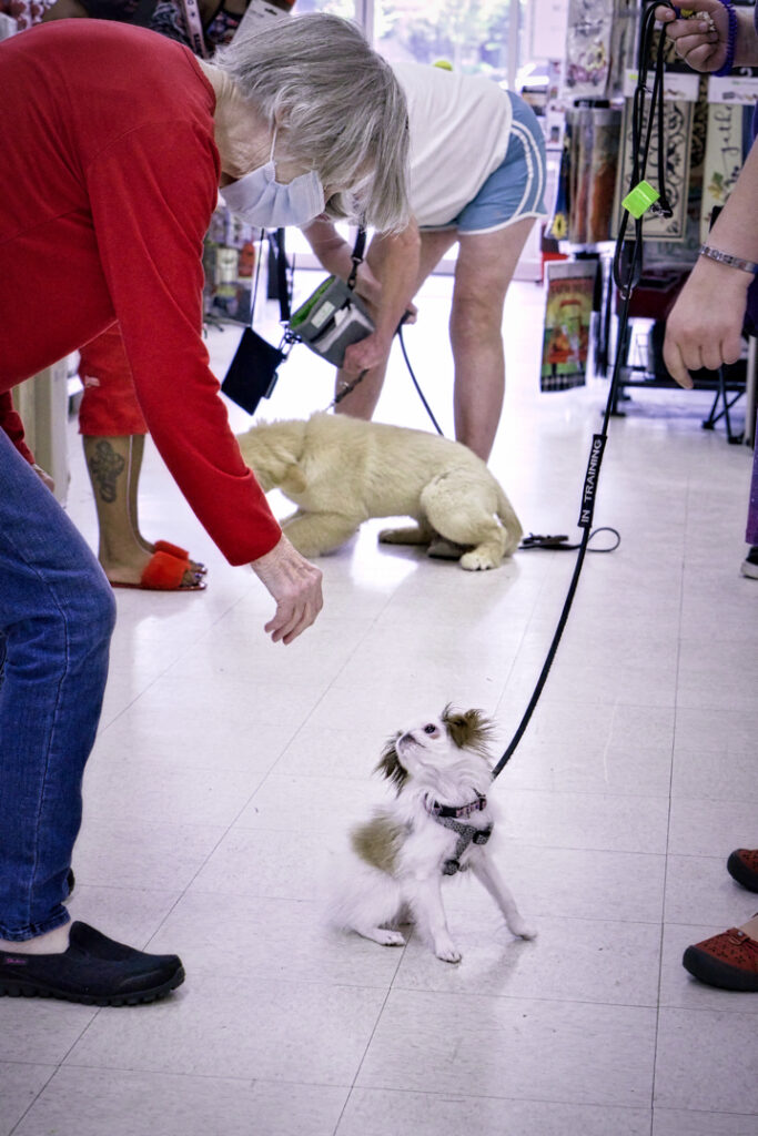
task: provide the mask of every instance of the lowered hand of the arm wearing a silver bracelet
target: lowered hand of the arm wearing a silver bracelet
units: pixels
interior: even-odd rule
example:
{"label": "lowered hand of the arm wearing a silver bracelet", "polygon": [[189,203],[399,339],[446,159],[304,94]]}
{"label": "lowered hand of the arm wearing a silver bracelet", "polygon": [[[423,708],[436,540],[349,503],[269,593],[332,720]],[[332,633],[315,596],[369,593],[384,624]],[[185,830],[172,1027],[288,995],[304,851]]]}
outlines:
{"label": "lowered hand of the arm wearing a silver bracelet", "polygon": [[718,370],[742,354],[748,273],[698,260],[666,320],[664,362],[680,386],[692,386],[691,370]]}

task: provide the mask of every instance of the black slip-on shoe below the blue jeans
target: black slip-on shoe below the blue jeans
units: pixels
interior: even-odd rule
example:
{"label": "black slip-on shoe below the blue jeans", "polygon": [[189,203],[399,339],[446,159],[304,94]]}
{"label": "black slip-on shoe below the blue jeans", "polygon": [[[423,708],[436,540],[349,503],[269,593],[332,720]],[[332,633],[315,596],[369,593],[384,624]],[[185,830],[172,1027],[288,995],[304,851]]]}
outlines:
{"label": "black slip-on shoe below the blue jeans", "polygon": [[83,922],[70,927],[61,954],[0,951],[0,995],[59,997],[85,1005],[155,1002],[184,982],[175,954],[145,954]]}

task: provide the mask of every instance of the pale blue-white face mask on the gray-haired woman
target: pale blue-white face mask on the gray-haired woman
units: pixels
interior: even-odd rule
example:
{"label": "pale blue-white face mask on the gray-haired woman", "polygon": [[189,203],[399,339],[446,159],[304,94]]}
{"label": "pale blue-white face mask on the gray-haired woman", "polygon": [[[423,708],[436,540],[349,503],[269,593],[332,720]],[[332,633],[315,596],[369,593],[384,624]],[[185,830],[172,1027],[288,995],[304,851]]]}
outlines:
{"label": "pale blue-white face mask on the gray-haired woman", "polygon": [[315,169],[284,184],[276,181],[274,147],[265,166],[251,169],[244,177],[220,190],[227,209],[257,228],[286,228],[307,225],[324,211],[324,186]]}

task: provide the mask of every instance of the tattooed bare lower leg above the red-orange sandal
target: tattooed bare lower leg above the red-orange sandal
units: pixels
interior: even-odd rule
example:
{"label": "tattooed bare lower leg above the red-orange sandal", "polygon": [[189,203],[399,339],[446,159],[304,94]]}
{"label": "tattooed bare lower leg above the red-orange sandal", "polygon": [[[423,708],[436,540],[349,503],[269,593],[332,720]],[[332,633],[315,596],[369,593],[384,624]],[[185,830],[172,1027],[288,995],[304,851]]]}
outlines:
{"label": "tattooed bare lower leg above the red-orange sandal", "polygon": [[[98,559],[111,583],[139,584],[153,551],[136,527],[136,486],[144,436],[84,436],[83,443],[98,513]],[[184,583],[192,586],[194,573],[186,573]]]}

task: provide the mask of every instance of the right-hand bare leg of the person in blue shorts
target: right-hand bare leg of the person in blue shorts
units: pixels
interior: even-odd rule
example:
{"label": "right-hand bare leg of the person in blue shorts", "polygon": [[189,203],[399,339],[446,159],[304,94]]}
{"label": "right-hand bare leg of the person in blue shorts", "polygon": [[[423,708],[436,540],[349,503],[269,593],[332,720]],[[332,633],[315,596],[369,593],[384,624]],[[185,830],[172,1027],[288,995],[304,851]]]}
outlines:
{"label": "right-hand bare leg of the person in blue shorts", "polygon": [[456,438],[486,461],[506,389],[502,308],[533,218],[494,233],[459,234],[450,312]]}

